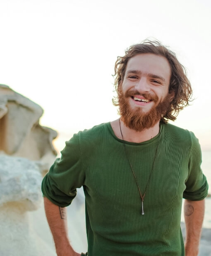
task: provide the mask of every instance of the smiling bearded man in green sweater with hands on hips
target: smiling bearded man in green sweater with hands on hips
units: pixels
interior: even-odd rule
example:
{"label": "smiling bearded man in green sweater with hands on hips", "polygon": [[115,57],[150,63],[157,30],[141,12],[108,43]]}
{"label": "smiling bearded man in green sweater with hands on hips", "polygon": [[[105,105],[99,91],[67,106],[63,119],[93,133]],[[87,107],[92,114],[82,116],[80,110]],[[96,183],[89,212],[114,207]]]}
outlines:
{"label": "smiling bearded man in green sweater with hands on hips", "polygon": [[80,255],[65,207],[83,186],[89,256],[196,256],[208,193],[201,150],[192,132],[167,123],[192,95],[185,69],[161,43],[144,41],[118,57],[115,75],[120,119],[75,134],[43,179],[57,254]]}

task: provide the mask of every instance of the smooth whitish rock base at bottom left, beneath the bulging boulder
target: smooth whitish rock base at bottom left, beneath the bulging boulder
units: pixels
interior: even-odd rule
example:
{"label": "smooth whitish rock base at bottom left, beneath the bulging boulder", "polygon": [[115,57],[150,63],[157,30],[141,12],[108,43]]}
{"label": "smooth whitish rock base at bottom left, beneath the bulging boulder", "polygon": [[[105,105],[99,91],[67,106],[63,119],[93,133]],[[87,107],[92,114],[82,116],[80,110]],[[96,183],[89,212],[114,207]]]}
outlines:
{"label": "smooth whitish rock base at bottom left, beneath the bulging boulder", "polygon": [[21,203],[0,207],[0,256],[56,256],[53,246],[34,232],[33,223]]}

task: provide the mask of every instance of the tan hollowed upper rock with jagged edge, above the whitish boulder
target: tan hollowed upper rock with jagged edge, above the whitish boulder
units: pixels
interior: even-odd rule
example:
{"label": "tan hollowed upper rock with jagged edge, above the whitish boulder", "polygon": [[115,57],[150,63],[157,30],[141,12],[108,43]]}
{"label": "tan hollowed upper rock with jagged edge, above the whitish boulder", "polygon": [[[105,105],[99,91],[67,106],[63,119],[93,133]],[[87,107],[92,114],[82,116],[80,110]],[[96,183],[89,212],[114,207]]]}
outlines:
{"label": "tan hollowed upper rock with jagged edge, above the whitish boulder", "polygon": [[52,141],[57,133],[39,124],[43,109],[7,85],[0,85],[0,151],[38,160],[48,171],[55,159]]}

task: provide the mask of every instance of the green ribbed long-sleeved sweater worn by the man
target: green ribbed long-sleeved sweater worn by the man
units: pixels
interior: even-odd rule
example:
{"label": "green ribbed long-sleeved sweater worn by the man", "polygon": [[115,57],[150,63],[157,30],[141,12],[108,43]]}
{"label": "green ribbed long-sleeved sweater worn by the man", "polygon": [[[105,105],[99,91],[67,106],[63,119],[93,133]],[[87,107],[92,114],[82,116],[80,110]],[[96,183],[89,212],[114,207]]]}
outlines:
{"label": "green ribbed long-sleeved sweater worn by the man", "polygon": [[144,215],[122,140],[110,123],[75,134],[44,177],[43,195],[61,207],[83,186],[89,256],[185,255],[182,197],[202,200],[208,194],[201,149],[192,132],[170,124],[161,124],[151,140],[125,142],[142,194],[159,139]]}

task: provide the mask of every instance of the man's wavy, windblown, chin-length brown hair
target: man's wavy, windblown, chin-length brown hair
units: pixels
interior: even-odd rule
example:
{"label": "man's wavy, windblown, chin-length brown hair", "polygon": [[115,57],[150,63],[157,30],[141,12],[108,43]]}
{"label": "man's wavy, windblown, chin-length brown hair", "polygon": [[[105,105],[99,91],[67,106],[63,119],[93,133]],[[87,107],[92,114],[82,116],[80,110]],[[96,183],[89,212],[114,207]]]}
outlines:
{"label": "man's wavy, windblown, chin-length brown hair", "polygon": [[169,92],[175,92],[175,97],[171,101],[166,114],[162,116],[161,121],[163,123],[167,123],[168,120],[175,121],[179,111],[188,106],[189,101],[192,100],[192,88],[187,78],[185,67],[177,60],[175,53],[163,46],[159,41],[144,40],[141,43],[130,46],[125,51],[125,56],[117,57],[114,68],[115,74],[113,75],[115,77],[114,85],[117,97],[112,99],[113,104],[119,106],[119,88],[125,77],[128,60],[140,53],[153,53],[168,60],[171,67]]}

